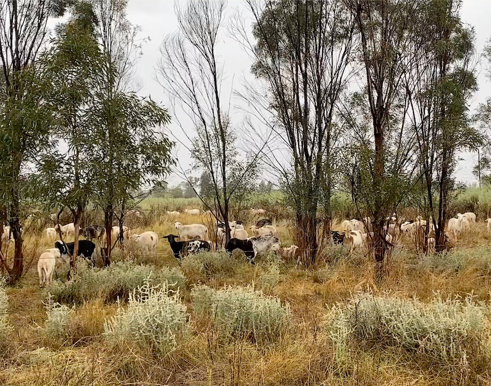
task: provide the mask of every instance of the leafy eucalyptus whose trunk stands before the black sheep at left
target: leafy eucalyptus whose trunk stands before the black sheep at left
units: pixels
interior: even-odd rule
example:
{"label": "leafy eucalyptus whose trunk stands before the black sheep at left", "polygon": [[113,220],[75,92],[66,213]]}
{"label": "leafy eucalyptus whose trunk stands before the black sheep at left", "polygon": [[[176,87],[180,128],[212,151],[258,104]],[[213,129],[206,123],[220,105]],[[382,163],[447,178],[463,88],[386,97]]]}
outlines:
{"label": "leafy eucalyptus whose trunk stands before the black sheep at left", "polygon": [[[102,53],[97,41],[97,18],[86,1],[74,2],[69,20],[55,28],[51,49],[42,55],[41,65],[51,79],[52,92],[47,100],[53,106],[54,134],[67,145],[67,152],[46,155],[49,161],[41,168],[45,197],[52,204],[68,208],[75,225],[75,266],[78,254],[79,225],[87,204],[94,196],[94,179],[98,159],[90,154],[95,146],[91,138],[95,121],[90,113],[98,103],[95,90],[99,87]],[[61,237],[61,233],[60,233]]]}

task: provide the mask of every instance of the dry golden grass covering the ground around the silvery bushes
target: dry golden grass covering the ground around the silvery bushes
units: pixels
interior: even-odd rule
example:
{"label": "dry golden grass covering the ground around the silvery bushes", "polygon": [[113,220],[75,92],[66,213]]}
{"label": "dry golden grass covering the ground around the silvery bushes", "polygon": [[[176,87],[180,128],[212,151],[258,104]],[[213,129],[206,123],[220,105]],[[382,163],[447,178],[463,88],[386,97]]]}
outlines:
{"label": "dry golden grass covering the ground around the silvery bushes", "polygon": [[[254,219],[254,220],[257,220]],[[174,233],[174,222],[204,223],[204,216],[161,215],[149,227],[134,233],[154,231],[163,236]],[[249,220],[246,230],[255,221]],[[280,220],[274,225],[283,246],[294,243],[293,224]],[[339,226],[335,225],[334,229]],[[289,302],[293,312],[292,328],[278,342],[257,347],[246,342],[222,344],[209,321],[191,313],[191,338],[167,356],[137,347],[118,351],[109,349],[101,334],[104,321],[115,312],[114,305],[102,299],[87,301],[76,309],[67,327],[70,338],[63,342],[46,339],[42,326],[46,320],[44,292],[38,287],[36,257],[52,246],[45,237],[30,234],[26,244],[33,264],[21,284],[9,288],[9,321],[14,325],[12,350],[0,360],[0,385],[489,385],[487,368],[473,369],[475,374],[451,378],[445,371],[432,369],[417,356],[401,350],[359,349],[344,367],[336,362],[335,349],[322,328],[327,306],[346,302],[352,294],[388,293],[407,299],[429,301],[435,292],[442,296],[472,293],[476,300],[489,303],[491,234],[484,223],[464,232],[455,250],[440,260],[416,256],[410,240],[402,240],[387,264],[387,274],[377,281],[374,267],[364,251],[346,252],[326,249],[315,270],[279,267],[269,270],[268,259],[251,266],[240,258],[229,272],[204,275],[185,272],[188,286],[183,291],[190,302],[193,285],[204,283],[253,285],[268,295]],[[131,250],[115,250],[114,260],[133,258],[137,263],[177,266],[166,240],[160,239],[155,256]],[[491,267],[491,264],[490,264]],[[64,272],[57,270],[59,275]],[[66,272],[65,272],[66,274]],[[277,277],[276,277],[277,275]],[[267,279],[271,278],[271,281]],[[62,277],[65,280],[64,277]],[[277,279],[277,280],[276,280]],[[273,283],[273,284],[271,284]],[[491,323],[486,321],[486,334]],[[490,339],[491,341],[491,339]],[[490,344],[491,347],[491,344]],[[478,372],[478,373],[477,373]]]}

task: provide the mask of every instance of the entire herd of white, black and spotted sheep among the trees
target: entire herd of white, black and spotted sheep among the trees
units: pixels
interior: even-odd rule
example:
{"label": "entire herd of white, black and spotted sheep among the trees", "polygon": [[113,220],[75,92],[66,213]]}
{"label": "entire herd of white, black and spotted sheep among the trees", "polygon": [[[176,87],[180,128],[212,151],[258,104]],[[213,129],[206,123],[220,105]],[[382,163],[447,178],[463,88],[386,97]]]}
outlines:
{"label": "entire herd of white, black and spotted sheep among the trees", "polygon": [[[184,212],[188,215],[207,214],[199,209],[185,209]],[[253,214],[263,214],[264,209],[251,209]],[[180,214],[177,211],[167,211],[167,215],[176,216]],[[428,248],[435,247],[435,226],[433,221],[416,217],[415,220],[406,221],[404,218],[398,217],[395,213],[387,217],[387,222],[384,227],[385,240],[387,243],[394,245],[404,237],[413,238],[421,232],[428,232],[425,239],[428,242]],[[486,220],[488,231],[491,232],[491,218]],[[472,212],[464,214],[458,213],[454,218],[451,218],[446,227],[445,234],[449,239],[456,241],[460,234],[469,229],[476,223],[476,215]],[[340,224],[338,231],[331,231],[331,238],[334,244],[342,244],[351,252],[356,248],[362,248],[367,244],[369,236],[370,218],[362,220],[344,220]],[[230,239],[225,243],[225,223],[217,220],[213,230],[214,243],[211,241],[208,228],[203,224],[187,224],[183,225],[180,222],[174,223],[174,229],[177,234],[168,234],[163,236],[167,239],[174,257],[181,263],[182,259],[190,254],[198,252],[211,251],[213,249],[224,249],[232,253],[239,249],[244,252],[247,259],[254,263],[254,259],[259,253],[266,251],[274,251],[281,261],[285,264],[298,263],[300,249],[296,245],[281,248],[281,242],[278,238],[276,228],[273,226],[270,219],[261,219],[251,226],[246,231],[242,221],[230,221]],[[38,260],[39,283],[51,284],[53,271],[55,269],[56,260],[69,261],[74,253],[74,242],[66,243],[62,240],[55,241],[59,234],[62,239],[67,239],[75,233],[73,223],[66,225],[57,224],[53,228],[45,229],[45,235],[54,241],[54,248],[44,252]],[[112,227],[111,239],[117,240],[120,233],[123,233],[123,240],[127,245],[133,245],[135,249],[142,250],[148,254],[155,254],[159,235],[153,231],[142,232],[139,234],[132,233],[128,227]],[[102,248],[106,244],[106,231],[100,225],[89,225],[84,229],[80,229],[80,234],[85,239],[79,240],[78,256],[86,259],[94,266],[94,252],[96,251],[96,243]],[[12,240],[12,234],[9,227],[4,227],[4,232],[1,236],[2,241]]]}

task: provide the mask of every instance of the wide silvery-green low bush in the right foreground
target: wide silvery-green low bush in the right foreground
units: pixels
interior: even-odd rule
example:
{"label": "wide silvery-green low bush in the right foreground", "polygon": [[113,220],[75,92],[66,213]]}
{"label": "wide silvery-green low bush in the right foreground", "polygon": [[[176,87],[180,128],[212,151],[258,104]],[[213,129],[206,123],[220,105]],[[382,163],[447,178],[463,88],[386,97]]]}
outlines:
{"label": "wide silvery-green low bush in the right foreground", "polygon": [[415,299],[361,295],[348,304],[333,306],[327,330],[340,365],[350,350],[402,349],[429,366],[457,368],[459,372],[486,362],[489,344],[484,333],[483,308],[469,298],[430,303]]}

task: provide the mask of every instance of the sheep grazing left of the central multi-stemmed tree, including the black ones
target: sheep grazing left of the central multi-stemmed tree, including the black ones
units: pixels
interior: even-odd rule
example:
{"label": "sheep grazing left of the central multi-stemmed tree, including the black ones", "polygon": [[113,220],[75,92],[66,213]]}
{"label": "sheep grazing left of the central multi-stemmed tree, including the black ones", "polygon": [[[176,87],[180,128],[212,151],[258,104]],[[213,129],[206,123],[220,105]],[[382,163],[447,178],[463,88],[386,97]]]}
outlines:
{"label": "sheep grazing left of the central multi-stemmed tree, including the black ones", "polygon": [[[263,209],[254,209],[254,214],[264,213]],[[201,214],[199,209],[186,209],[188,215]],[[205,213],[205,212],[203,212]],[[167,212],[168,215],[177,215],[179,212]],[[5,238],[11,238],[11,234],[5,227]],[[230,240],[225,244],[225,223],[216,221],[215,227],[215,245],[209,237],[208,228],[202,224],[183,225],[180,222],[174,223],[177,234],[168,234],[163,236],[169,242],[174,257],[179,263],[188,255],[199,252],[209,252],[216,246],[218,249],[224,248],[226,252],[232,253],[234,250],[242,250],[247,259],[254,264],[254,259],[259,253],[274,251],[280,259],[286,264],[289,262],[298,262],[298,247],[292,245],[288,248],[280,248],[280,239],[276,235],[276,228],[272,225],[270,219],[259,220],[255,225],[249,228],[252,236],[244,228],[241,221],[229,222]],[[89,225],[80,229],[80,234],[85,239],[79,240],[78,256],[86,259],[90,265],[94,266],[94,252],[96,243],[103,247],[106,244],[106,232],[100,225]],[[155,254],[159,236],[156,232],[147,231],[139,234],[132,233],[128,227],[112,227],[111,239],[117,240],[122,232],[123,240],[126,245],[133,245],[138,250],[143,250],[148,254]],[[56,225],[54,228],[47,228],[45,235],[54,241],[59,234],[62,239],[67,239],[75,234],[74,223],[66,225]],[[3,237],[3,236],[2,236]],[[38,260],[38,275],[40,285],[51,285],[53,281],[53,272],[55,270],[56,260],[69,262],[74,254],[75,243],[66,243],[62,240],[54,242],[55,247],[44,252]]]}

